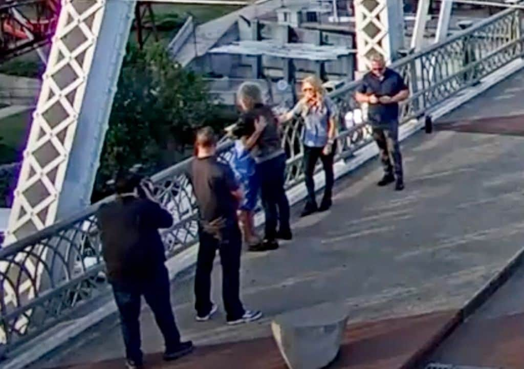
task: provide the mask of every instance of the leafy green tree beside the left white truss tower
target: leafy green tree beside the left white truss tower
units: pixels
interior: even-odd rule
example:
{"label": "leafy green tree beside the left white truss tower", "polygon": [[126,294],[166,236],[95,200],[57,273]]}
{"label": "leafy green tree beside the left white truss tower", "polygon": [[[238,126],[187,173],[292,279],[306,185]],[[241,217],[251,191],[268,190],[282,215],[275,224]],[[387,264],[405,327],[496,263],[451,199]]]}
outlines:
{"label": "leafy green tree beside the left white truss tower", "polygon": [[161,45],[129,47],[115,94],[94,200],[118,168],[155,172],[188,155],[195,129],[222,128],[205,81],[174,63]]}

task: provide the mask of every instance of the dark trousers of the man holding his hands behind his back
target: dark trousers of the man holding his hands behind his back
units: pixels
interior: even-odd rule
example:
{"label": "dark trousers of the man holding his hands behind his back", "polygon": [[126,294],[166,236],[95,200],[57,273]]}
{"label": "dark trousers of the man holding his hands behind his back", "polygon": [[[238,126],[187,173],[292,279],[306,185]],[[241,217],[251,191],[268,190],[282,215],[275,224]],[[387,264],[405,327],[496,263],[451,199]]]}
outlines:
{"label": "dark trousers of the man holding his hands behind his back", "polygon": [[[202,227],[201,227],[202,228]],[[240,255],[242,234],[236,222],[230,222],[221,232],[222,240],[199,230],[199,251],[196,259],[195,309],[198,316],[204,317],[211,311],[211,272],[219,249],[222,264],[222,298],[227,320],[236,320],[244,315],[240,301]]]}

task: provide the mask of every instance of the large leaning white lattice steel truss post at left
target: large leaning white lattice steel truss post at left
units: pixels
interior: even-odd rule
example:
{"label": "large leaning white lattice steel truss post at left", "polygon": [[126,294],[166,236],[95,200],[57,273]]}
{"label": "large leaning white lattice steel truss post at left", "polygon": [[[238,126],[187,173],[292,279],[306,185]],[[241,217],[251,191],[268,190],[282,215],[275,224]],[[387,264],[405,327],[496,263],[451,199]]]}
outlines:
{"label": "large leaning white lattice steel truss post at left", "polygon": [[89,205],[134,8],[62,0],[6,244]]}

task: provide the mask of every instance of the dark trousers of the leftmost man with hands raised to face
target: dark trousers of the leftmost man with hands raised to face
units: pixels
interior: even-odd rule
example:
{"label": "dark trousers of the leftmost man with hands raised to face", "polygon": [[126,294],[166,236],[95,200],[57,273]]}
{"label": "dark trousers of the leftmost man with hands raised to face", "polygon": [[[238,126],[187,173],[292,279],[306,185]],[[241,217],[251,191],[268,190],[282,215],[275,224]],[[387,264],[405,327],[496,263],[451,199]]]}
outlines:
{"label": "dark trousers of the leftmost man with hands raised to face", "polygon": [[174,321],[170,302],[169,275],[164,265],[159,265],[151,277],[133,283],[113,282],[113,294],[120,312],[126,357],[141,362],[140,350],[140,298],[144,296],[155,315],[166,343],[166,351],[180,344],[180,333]]}

